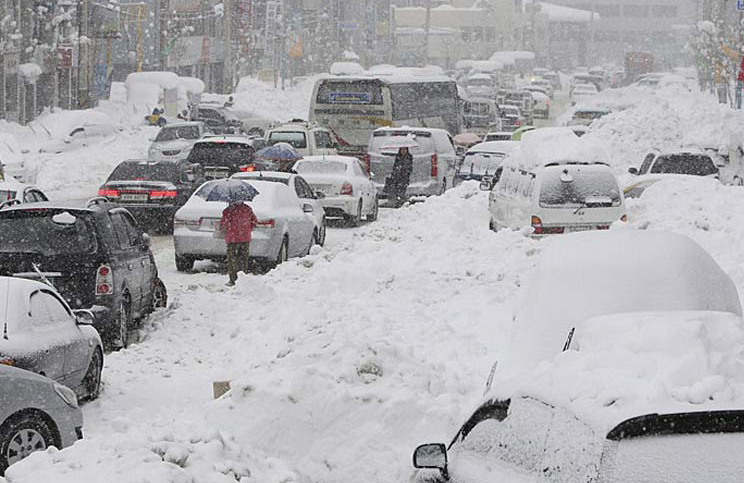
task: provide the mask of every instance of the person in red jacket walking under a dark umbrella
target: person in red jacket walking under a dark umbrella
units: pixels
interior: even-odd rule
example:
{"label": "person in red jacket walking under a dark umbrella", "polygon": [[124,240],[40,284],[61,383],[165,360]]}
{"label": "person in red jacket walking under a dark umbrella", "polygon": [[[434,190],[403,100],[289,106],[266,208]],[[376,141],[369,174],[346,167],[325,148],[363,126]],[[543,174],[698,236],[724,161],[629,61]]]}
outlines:
{"label": "person in red jacket walking under a dark umbrella", "polygon": [[220,220],[220,231],[225,234],[227,244],[227,273],[235,285],[238,272],[248,273],[248,248],[251,244],[251,233],[258,223],[250,206],[242,201],[235,201],[225,208]]}

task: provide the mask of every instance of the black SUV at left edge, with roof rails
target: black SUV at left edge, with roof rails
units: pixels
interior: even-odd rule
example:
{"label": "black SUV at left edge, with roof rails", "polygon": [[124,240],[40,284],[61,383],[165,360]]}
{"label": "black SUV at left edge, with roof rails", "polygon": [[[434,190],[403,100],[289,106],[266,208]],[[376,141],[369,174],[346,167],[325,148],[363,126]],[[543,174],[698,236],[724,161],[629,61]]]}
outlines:
{"label": "black SUV at left edge, with roof rails", "polygon": [[89,309],[103,339],[126,347],[133,321],[165,307],[150,238],[125,208],[94,198],[0,211],[0,275],[51,283],[73,309]]}

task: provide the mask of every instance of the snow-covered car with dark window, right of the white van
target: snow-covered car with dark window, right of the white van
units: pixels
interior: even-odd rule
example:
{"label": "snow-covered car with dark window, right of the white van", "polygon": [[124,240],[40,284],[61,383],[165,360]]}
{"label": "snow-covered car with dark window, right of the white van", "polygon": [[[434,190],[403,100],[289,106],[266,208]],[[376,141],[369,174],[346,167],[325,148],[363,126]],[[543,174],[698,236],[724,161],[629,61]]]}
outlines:
{"label": "snow-covered car with dark window, right of the white van", "polygon": [[719,177],[719,168],[710,154],[701,149],[679,149],[661,152],[653,150],[643,158],[640,168],[629,168],[637,178],[623,192],[626,197],[638,198],[657,181],[670,176]]}

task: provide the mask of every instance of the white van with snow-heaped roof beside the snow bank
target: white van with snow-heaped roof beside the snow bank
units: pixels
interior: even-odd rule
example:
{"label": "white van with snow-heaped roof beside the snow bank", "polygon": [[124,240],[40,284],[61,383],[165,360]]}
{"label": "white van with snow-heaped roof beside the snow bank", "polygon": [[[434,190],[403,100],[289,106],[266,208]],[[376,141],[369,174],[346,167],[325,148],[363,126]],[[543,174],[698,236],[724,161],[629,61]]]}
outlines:
{"label": "white van with snow-heaped roof beside the snow bank", "polygon": [[534,171],[502,165],[493,179],[481,182],[490,191],[489,227],[519,230],[533,236],[606,230],[626,220],[623,193],[609,166],[571,161],[546,164]]}

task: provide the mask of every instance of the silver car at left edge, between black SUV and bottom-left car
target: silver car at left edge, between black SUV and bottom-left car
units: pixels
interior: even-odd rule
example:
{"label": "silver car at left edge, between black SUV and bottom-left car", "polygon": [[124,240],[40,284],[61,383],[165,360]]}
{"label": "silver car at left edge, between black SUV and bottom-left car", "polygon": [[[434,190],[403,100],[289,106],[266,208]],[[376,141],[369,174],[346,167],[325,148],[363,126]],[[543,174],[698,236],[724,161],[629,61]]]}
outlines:
{"label": "silver car at left edge, between black SUV and bottom-left car", "polygon": [[101,386],[103,343],[94,316],[73,311],[57,291],[23,273],[0,277],[3,337],[0,363],[54,379],[78,397],[96,399]]}

